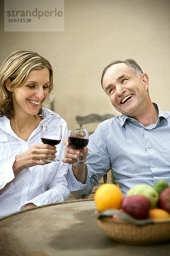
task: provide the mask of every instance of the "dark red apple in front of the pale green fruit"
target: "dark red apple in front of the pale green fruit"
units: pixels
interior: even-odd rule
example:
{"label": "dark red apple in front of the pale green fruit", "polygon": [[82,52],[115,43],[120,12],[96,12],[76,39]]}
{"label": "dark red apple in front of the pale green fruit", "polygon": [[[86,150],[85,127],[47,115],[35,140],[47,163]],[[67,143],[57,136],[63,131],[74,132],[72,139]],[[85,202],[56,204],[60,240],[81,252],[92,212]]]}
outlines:
{"label": "dark red apple in front of the pale green fruit", "polygon": [[144,195],[125,196],[121,200],[122,209],[134,218],[147,218],[150,209],[150,199]]}

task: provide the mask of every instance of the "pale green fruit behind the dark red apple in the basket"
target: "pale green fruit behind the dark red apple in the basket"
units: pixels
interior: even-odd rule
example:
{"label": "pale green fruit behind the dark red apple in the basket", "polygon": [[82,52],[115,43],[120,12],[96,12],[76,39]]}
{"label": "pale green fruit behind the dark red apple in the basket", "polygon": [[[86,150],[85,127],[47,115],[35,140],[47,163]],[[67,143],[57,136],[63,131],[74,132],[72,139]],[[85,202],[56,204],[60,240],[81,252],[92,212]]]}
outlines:
{"label": "pale green fruit behind the dark red apple in the basket", "polygon": [[127,191],[126,196],[129,195],[144,195],[151,201],[150,208],[156,207],[158,200],[159,200],[159,194],[152,186],[146,185],[146,184],[139,184],[135,185],[132,188],[130,188]]}

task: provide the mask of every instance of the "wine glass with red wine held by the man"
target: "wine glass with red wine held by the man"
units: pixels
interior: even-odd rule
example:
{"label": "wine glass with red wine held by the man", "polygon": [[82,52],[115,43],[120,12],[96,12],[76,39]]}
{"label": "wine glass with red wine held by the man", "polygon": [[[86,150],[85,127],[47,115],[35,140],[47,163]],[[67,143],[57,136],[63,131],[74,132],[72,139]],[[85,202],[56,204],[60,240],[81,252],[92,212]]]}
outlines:
{"label": "wine glass with red wine held by the man", "polygon": [[68,142],[71,148],[78,149],[80,151],[80,155],[78,157],[77,163],[74,163],[74,166],[85,165],[88,162],[83,160],[82,149],[88,145],[88,128],[76,128],[72,130],[68,130]]}

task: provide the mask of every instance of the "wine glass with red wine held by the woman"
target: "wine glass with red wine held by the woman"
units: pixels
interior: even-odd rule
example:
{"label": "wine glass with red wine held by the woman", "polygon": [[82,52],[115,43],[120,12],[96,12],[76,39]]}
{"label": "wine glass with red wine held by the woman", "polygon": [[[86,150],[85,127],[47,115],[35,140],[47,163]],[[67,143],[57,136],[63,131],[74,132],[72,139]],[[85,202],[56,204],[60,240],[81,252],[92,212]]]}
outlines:
{"label": "wine glass with red wine held by the woman", "polygon": [[[40,132],[42,143],[48,144],[51,146],[57,145],[60,143],[62,138],[62,125],[41,125]],[[45,162],[57,162],[59,159],[57,158],[48,158],[48,159],[40,159]]]}

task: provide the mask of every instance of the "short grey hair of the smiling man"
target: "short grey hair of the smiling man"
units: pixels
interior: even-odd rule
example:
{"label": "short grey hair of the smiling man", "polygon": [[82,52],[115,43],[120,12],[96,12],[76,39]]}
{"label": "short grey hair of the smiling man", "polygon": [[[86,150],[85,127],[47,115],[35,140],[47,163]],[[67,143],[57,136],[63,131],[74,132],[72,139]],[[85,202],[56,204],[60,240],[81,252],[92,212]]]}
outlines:
{"label": "short grey hair of the smiling man", "polygon": [[139,64],[134,61],[133,59],[127,59],[125,61],[112,61],[110,64],[108,64],[108,66],[106,66],[102,72],[102,78],[101,78],[101,84],[102,84],[102,88],[103,88],[103,77],[105,76],[106,71],[113,66],[114,64],[119,64],[119,63],[125,63],[130,67],[130,70],[137,76],[137,77],[141,77],[141,75],[143,74],[143,71],[141,69],[141,67],[139,66]]}

